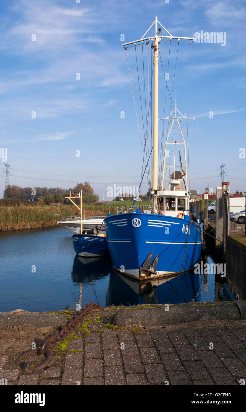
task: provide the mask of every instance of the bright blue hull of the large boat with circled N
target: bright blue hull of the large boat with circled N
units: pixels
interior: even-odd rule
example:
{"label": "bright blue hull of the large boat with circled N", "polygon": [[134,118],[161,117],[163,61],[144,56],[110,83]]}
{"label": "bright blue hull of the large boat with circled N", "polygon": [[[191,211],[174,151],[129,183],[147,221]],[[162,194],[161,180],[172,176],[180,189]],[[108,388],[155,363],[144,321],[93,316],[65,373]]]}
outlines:
{"label": "bright blue hull of the large boat with circled N", "polygon": [[[175,276],[200,260],[201,229],[189,216],[114,215],[105,219],[105,229],[113,267],[138,280]],[[146,274],[141,268],[151,252],[152,262],[158,255],[156,273]]]}

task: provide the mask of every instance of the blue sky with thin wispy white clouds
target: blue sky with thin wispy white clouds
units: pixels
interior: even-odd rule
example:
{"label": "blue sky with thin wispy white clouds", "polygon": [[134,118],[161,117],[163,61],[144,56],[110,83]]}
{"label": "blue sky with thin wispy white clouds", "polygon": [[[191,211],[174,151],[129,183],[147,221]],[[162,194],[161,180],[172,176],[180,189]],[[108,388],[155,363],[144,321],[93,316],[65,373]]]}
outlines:
{"label": "blue sky with thin wispy white clouds", "polygon": [[[1,2],[0,147],[8,148],[9,184],[73,187],[88,180],[100,199],[108,185],[139,184],[142,149],[120,36],[139,39],[155,15],[174,36],[226,33],[225,46],[191,45],[179,108],[196,117],[189,126],[190,189],[204,192],[209,182],[215,190],[225,163],[230,191],[246,190],[246,159],[239,157],[246,147],[246,8],[237,0]],[[136,87],[137,77],[132,81]],[[0,197],[4,185],[2,177]]]}

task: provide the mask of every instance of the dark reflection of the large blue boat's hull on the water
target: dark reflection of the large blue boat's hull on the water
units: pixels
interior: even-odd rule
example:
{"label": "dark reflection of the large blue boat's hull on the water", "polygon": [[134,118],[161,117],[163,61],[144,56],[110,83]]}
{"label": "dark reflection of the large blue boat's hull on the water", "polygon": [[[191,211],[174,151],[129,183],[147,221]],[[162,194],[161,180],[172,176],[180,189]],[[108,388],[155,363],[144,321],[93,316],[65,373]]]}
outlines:
{"label": "dark reflection of the large blue boat's hull on the water", "polygon": [[[106,305],[132,306],[196,301],[200,292],[201,275],[194,271],[181,273],[172,279],[152,279],[138,282],[111,270]],[[179,278],[179,279],[178,279]]]}

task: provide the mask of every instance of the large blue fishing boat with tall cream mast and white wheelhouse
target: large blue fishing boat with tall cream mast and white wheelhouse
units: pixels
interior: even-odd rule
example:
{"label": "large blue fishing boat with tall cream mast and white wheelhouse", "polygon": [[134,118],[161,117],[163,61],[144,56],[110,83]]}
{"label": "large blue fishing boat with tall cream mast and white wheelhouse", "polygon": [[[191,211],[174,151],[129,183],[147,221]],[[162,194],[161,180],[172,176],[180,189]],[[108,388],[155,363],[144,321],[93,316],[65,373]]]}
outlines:
{"label": "large blue fishing boat with tall cream mast and white wheelhouse", "polygon": [[[157,30],[158,23],[167,32],[162,35],[162,28]],[[146,36],[146,33],[150,28],[155,27],[154,36]],[[149,96],[149,105],[146,108],[146,124],[144,125],[143,120],[143,132],[144,132],[144,146],[142,145],[144,152],[144,161],[146,167],[145,171],[149,168],[149,159],[152,155],[152,180],[149,182],[149,188],[151,190],[152,204],[149,210],[143,211],[137,208],[135,213],[124,213],[118,215],[109,215],[105,218],[105,230],[107,234],[107,243],[109,246],[109,253],[114,268],[124,275],[130,276],[139,281],[147,279],[158,279],[176,276],[181,272],[186,272],[192,269],[200,260],[201,249],[202,249],[202,225],[200,216],[198,215],[197,222],[191,219],[190,211],[190,195],[188,191],[188,173],[186,164],[186,142],[183,137],[181,129],[181,120],[188,122],[188,119],[194,119],[182,115],[178,110],[176,105],[172,102],[172,92],[170,93],[168,84],[166,82],[166,95],[170,97],[170,110],[169,115],[158,119],[158,65],[159,65],[159,45],[163,42],[165,46],[165,39],[169,39],[171,42],[176,41],[179,48],[179,41],[181,39],[184,42],[191,44],[193,42],[193,37],[175,37],[172,36],[160,22],[158,22],[157,17],[155,21],[144,34],[140,40],[135,40],[133,42],[123,44],[125,53],[128,47],[132,47],[134,54],[136,55],[137,61],[137,47],[140,49],[141,59],[142,54],[144,56],[143,47],[147,46],[147,55],[153,56],[153,61],[149,60],[149,70],[148,82],[149,91],[147,92],[144,84],[144,96],[141,100],[141,90],[143,88],[139,85],[141,111],[143,118],[142,105],[146,104],[146,96]],[[151,50],[149,51],[149,43],[151,42]],[[145,46],[146,45],[146,46]],[[152,54],[153,53],[153,54]],[[170,54],[170,51],[169,51]],[[163,52],[164,55],[164,52]],[[161,56],[161,54],[160,54]],[[161,57],[160,57],[161,59]],[[144,57],[142,59],[144,62]],[[153,69],[151,68],[151,63],[153,64]],[[162,63],[162,61],[161,61]],[[163,62],[164,63],[164,62]],[[164,64],[162,63],[162,70],[165,74]],[[144,64],[144,63],[143,63]],[[168,62],[169,64],[169,62]],[[176,68],[176,66],[175,66]],[[129,66],[128,73],[130,76]],[[145,74],[143,70],[142,78],[145,79]],[[168,73],[167,73],[168,74]],[[139,66],[137,66],[137,75],[139,79]],[[163,76],[164,77],[164,76]],[[175,77],[175,76],[174,76]],[[153,80],[153,84],[152,84]],[[131,83],[132,87],[132,83]],[[168,93],[167,93],[168,91]],[[153,94],[152,94],[153,92]],[[133,88],[132,94],[134,98]],[[162,91],[163,96],[163,91]],[[136,99],[134,100],[135,105]],[[148,107],[150,108],[150,103],[153,102],[153,117],[149,115]],[[136,105],[135,105],[136,108]],[[173,110],[171,111],[171,108]],[[150,119],[151,117],[151,119]],[[147,138],[148,138],[148,128],[151,124],[151,152],[147,153]],[[161,145],[161,153],[159,154],[158,149],[158,120],[161,120],[164,125],[167,124],[167,137],[164,144]],[[169,126],[170,124],[170,126]],[[180,132],[178,138],[175,142],[169,143],[170,132],[173,131],[173,125],[178,125],[178,131]],[[139,127],[139,122],[138,122]],[[152,134],[153,131],[153,134]],[[139,129],[140,133],[140,129]],[[162,133],[163,134],[163,133]],[[174,136],[174,135],[173,135]],[[141,138],[141,136],[140,136]],[[142,142],[141,142],[142,143]],[[170,158],[170,152],[167,150],[168,145],[174,145],[173,158],[174,166],[166,165],[166,158],[168,161]],[[175,153],[176,146],[181,145],[184,153],[184,167],[182,165],[181,152],[179,151],[179,166],[175,164]],[[164,149],[164,152],[163,152]],[[163,153],[163,156],[162,156]],[[163,160],[162,160],[163,159]],[[162,163],[163,162],[163,163]],[[171,173],[172,167],[174,171]],[[177,170],[179,169],[180,170]],[[143,171],[143,169],[142,169]],[[168,173],[169,172],[169,173]],[[141,176],[141,183],[144,178],[144,173]],[[148,176],[149,173],[147,173]],[[167,176],[169,174],[169,176]],[[167,184],[165,189],[164,180],[167,179]],[[139,185],[139,190],[141,187]],[[169,186],[169,187],[168,187]],[[138,196],[138,194],[137,194]],[[136,199],[137,199],[136,196]],[[196,213],[196,212],[195,212]]]}

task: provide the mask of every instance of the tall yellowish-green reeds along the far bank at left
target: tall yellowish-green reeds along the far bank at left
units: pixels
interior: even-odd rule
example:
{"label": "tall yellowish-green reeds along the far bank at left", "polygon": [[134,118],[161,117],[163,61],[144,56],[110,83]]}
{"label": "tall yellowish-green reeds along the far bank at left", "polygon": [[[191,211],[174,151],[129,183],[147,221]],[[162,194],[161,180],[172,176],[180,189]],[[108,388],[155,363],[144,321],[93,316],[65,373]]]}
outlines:
{"label": "tall yellowish-green reeds along the far bank at left", "polygon": [[[86,206],[86,215],[100,216],[108,214],[108,206]],[[19,204],[0,206],[0,231],[39,229],[58,226],[61,216],[71,216],[78,211],[75,206],[50,204]]]}

